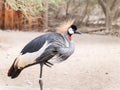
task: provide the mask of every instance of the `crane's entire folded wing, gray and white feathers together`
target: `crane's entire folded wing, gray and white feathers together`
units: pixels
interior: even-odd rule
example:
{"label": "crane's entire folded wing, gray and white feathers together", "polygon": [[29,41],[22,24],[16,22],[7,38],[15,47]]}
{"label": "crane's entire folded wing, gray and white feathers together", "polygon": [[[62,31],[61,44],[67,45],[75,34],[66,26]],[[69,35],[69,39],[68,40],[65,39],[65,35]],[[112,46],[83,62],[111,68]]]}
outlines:
{"label": "crane's entire folded wing, gray and white feathers together", "polygon": [[15,61],[17,68],[25,68],[37,63],[46,63],[57,54],[57,49],[64,47],[64,37],[58,33],[48,33],[29,42]]}

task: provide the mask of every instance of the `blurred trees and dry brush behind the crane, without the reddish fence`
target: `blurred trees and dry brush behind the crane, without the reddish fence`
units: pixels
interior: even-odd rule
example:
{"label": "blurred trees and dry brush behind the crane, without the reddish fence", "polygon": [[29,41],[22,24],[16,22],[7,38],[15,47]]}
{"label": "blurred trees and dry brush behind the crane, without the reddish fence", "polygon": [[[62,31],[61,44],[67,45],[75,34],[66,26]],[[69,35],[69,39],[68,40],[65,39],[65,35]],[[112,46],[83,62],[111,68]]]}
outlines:
{"label": "blurred trees and dry brush behind the crane, without the reddish fence", "polygon": [[29,19],[46,15],[46,25],[54,30],[61,21],[74,18],[83,32],[119,35],[119,0],[7,0]]}

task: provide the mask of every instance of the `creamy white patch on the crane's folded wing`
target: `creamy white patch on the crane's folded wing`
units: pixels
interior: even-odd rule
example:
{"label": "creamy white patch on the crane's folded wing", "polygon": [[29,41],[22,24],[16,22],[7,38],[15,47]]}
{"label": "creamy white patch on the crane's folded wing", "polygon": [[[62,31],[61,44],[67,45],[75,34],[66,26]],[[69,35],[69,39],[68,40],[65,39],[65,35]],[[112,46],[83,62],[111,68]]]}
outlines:
{"label": "creamy white patch on the crane's folded wing", "polygon": [[32,53],[26,53],[26,54],[20,54],[17,57],[15,65],[17,65],[18,68],[23,68],[29,64],[35,63],[36,58],[41,56],[44,52],[44,50],[49,46],[50,44],[46,41],[45,44],[36,52]]}

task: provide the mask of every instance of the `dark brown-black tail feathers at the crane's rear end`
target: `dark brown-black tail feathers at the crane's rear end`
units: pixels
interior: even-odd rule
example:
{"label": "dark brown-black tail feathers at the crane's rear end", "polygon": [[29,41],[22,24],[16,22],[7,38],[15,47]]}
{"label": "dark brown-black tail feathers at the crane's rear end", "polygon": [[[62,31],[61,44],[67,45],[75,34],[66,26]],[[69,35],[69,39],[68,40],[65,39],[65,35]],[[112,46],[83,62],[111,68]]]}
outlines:
{"label": "dark brown-black tail feathers at the crane's rear end", "polygon": [[11,78],[16,78],[20,74],[20,72],[22,71],[22,69],[18,69],[17,67],[14,67],[15,61],[8,71],[8,76]]}

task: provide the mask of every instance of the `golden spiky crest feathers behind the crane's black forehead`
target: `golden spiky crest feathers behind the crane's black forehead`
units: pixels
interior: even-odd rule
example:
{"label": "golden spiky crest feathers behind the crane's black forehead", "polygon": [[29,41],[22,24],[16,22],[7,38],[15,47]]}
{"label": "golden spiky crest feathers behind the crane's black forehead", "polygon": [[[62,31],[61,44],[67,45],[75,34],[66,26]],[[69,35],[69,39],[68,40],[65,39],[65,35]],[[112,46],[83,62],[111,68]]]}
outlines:
{"label": "golden spiky crest feathers behind the crane's black forehead", "polygon": [[67,21],[62,22],[57,28],[56,31],[58,33],[65,33],[68,28],[74,23],[74,19],[69,19]]}

